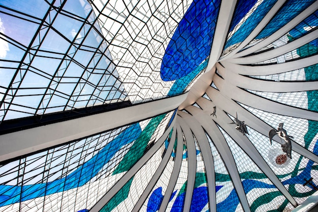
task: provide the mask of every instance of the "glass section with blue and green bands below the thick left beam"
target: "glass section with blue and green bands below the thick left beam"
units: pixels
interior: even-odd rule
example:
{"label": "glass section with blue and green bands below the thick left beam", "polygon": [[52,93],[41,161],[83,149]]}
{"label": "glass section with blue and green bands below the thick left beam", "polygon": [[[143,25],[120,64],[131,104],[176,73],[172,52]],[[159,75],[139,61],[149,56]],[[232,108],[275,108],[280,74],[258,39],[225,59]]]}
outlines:
{"label": "glass section with blue and green bands below the thick left beam", "polygon": [[[122,173],[129,170],[144,155],[147,145],[156,142],[171,117],[172,112],[168,116],[163,114],[128,128],[94,135],[2,165],[1,206],[6,209],[10,207],[8,205],[16,203],[19,208],[19,202],[22,202],[27,207],[31,202],[27,200],[52,196],[52,201],[57,199],[57,202],[51,205],[52,209],[58,208],[60,201],[67,200],[56,194],[69,190],[74,193],[79,190],[86,192],[87,198],[90,197],[85,200],[91,202],[85,208],[90,208],[97,202],[98,196],[105,194],[120,179]],[[93,190],[88,192],[87,189],[91,188],[95,188],[97,193],[92,192]],[[74,195],[74,201],[79,201],[76,198],[81,197]],[[45,199],[41,201],[36,206],[41,207],[42,204],[42,207],[46,208],[43,205]]]}

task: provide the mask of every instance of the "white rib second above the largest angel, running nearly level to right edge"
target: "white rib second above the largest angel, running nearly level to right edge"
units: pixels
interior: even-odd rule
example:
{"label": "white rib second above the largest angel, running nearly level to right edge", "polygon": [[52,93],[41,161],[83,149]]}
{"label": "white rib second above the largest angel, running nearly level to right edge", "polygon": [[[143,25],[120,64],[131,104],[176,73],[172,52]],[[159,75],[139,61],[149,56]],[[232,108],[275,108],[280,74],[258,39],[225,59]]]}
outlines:
{"label": "white rib second above the largest angel, running nearly level to right edge", "polygon": [[[318,30],[317,30],[318,32]],[[297,92],[318,90],[317,82],[273,82],[266,80],[251,79],[238,75],[231,70],[226,70],[220,64],[216,64],[217,70],[227,83],[237,87],[263,92]]]}

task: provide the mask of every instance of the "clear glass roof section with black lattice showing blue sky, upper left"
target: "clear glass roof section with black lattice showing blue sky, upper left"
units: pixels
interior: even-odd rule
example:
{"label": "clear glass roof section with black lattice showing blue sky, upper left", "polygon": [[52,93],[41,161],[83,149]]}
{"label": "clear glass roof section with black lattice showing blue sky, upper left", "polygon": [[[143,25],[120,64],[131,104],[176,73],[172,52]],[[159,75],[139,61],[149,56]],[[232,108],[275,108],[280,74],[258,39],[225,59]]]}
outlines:
{"label": "clear glass roof section with black lattice showing blue sky, upper left", "polygon": [[[71,4],[76,7],[70,9]],[[6,36],[1,39],[6,47],[0,58],[1,75],[6,80],[1,85],[5,102],[1,103],[0,121],[128,100],[115,66],[109,65],[112,59],[107,42],[86,1],[68,1],[65,10],[36,2],[33,6],[39,5],[38,13],[33,13],[35,10],[29,9],[32,4],[26,2],[18,6],[5,1],[0,5],[10,7],[0,15],[1,32]],[[15,63],[5,62],[8,59],[17,61],[15,69]],[[106,73],[114,78],[101,80]],[[33,103],[16,96],[21,89],[27,95],[28,90],[37,88],[44,90],[29,97]]]}

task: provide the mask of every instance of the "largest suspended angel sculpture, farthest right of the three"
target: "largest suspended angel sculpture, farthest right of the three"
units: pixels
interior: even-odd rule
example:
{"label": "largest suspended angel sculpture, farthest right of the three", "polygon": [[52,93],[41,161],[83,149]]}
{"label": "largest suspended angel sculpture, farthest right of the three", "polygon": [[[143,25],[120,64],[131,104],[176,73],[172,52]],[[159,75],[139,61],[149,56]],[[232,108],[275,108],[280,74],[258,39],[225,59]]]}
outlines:
{"label": "largest suspended angel sculpture, farthest right of the three", "polygon": [[272,139],[275,135],[278,135],[280,138],[284,139],[285,144],[281,145],[282,151],[292,159],[292,139],[293,136],[287,134],[287,131],[283,128],[284,123],[279,123],[277,130],[271,129],[269,131],[269,141],[272,145]]}

